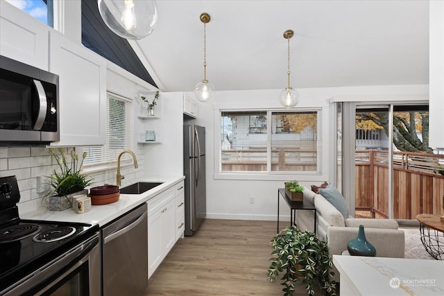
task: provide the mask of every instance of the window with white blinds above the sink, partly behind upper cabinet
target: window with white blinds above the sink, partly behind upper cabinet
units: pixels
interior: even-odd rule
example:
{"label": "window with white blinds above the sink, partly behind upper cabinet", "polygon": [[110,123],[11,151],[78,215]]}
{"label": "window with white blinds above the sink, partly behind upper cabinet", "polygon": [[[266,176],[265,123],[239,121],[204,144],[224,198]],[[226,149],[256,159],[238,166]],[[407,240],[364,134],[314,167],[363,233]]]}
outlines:
{"label": "window with white blinds above the sink, partly behind upper cabinet", "polygon": [[[104,146],[88,146],[84,161],[85,168],[107,168],[116,166],[117,157],[122,150],[132,146],[132,101],[116,94],[107,94],[106,143]],[[128,154],[122,155],[123,161],[130,161]]]}

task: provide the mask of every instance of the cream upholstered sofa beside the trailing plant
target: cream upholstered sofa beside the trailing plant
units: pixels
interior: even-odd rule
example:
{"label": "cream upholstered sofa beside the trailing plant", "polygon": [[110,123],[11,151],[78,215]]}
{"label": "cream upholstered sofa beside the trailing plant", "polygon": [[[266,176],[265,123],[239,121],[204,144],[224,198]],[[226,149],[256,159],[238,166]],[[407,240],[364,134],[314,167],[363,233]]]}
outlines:
{"label": "cream upholstered sofa beside the trailing plant", "polygon": [[[339,210],[321,194],[305,187],[304,200],[316,207],[316,234],[327,241],[330,254],[342,254],[347,243],[357,237],[359,225],[364,225],[367,240],[375,246],[376,256],[404,258],[404,231],[391,219],[344,218]],[[314,211],[296,210],[296,225],[302,230],[314,231]],[[333,268],[334,279],[339,281],[339,272]]]}

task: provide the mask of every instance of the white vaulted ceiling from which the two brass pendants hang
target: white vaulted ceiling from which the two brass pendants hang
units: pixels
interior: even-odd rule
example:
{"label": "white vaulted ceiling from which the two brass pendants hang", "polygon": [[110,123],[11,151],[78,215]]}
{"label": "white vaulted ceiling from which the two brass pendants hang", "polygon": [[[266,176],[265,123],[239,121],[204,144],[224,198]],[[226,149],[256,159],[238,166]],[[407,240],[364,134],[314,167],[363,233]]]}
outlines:
{"label": "white vaulted ceiling from which the two brass pendants hang", "polygon": [[287,40],[291,85],[346,87],[427,84],[429,3],[396,1],[157,0],[148,37],[130,42],[164,91],[192,91],[203,79],[216,90],[283,89]]}

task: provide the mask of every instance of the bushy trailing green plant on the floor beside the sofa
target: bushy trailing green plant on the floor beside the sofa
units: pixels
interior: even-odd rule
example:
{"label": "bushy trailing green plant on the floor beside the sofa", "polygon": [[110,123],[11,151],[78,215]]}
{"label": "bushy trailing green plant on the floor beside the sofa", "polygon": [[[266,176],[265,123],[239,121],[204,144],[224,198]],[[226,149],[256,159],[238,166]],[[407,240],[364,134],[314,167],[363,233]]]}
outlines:
{"label": "bushy trailing green plant on the floor beside the sofa", "polygon": [[267,278],[275,281],[280,272],[284,272],[282,285],[284,296],[291,296],[298,280],[305,284],[307,294],[314,294],[314,279],[317,277],[321,289],[326,295],[336,295],[336,282],[332,280],[332,256],[327,243],[310,231],[302,232],[298,227],[290,226],[277,234],[270,241],[273,251]]}

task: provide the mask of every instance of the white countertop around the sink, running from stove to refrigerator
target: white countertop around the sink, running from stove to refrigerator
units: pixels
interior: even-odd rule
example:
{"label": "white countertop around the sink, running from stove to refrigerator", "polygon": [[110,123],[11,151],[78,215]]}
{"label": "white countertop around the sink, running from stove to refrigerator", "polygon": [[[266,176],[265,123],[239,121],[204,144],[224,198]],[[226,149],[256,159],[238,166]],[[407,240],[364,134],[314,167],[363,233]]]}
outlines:
{"label": "white countertop around the sink, running from stove to refrigerator", "polygon": [[65,211],[49,211],[44,207],[40,207],[40,209],[37,209],[36,211],[21,214],[20,218],[99,224],[99,226],[102,227],[115,218],[118,218],[131,209],[134,209],[139,204],[150,200],[165,189],[170,188],[173,184],[176,184],[184,179],[185,176],[176,178],[173,177],[165,180],[138,180],[137,182],[163,182],[163,184],[160,184],[159,186],[156,186],[155,188],[142,194],[121,194],[117,202],[113,202],[112,204],[92,205],[91,210],[83,214],[77,214],[72,209],[66,209]]}

